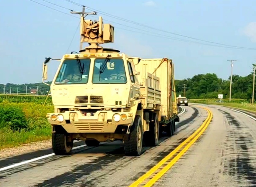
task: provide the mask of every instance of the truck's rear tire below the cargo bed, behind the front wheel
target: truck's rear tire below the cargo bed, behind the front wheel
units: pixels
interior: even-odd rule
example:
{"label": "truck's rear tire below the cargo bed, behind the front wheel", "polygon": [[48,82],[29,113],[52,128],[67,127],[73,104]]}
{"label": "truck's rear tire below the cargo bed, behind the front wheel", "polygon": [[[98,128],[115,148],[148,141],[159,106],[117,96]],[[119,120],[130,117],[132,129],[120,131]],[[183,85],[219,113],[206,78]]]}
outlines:
{"label": "truck's rear tire below the cargo bed, behind the front wheel", "polygon": [[145,145],[146,146],[157,146],[158,140],[159,140],[159,123],[158,123],[158,117],[155,115],[154,122],[149,123],[149,131],[144,133],[146,136]]}

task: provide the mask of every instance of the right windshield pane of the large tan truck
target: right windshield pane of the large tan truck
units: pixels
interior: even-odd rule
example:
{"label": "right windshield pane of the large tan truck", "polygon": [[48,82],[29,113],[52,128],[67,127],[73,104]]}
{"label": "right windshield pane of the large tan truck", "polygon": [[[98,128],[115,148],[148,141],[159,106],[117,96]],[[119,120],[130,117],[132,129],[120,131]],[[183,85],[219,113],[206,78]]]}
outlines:
{"label": "right windshield pane of the large tan truck", "polygon": [[120,58],[110,58],[106,68],[100,73],[100,67],[104,65],[105,58],[97,58],[94,61],[93,80],[94,84],[125,84],[127,83],[124,61]]}

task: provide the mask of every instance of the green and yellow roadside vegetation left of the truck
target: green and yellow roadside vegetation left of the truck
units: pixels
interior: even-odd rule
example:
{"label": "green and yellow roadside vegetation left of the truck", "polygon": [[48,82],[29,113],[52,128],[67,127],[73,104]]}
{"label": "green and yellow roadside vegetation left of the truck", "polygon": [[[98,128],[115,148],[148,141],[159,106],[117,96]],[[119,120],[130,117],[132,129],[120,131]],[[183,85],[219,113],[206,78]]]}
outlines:
{"label": "green and yellow roadside vegetation left of the truck", "polygon": [[51,97],[0,95],[0,149],[51,138],[46,114],[53,112]]}

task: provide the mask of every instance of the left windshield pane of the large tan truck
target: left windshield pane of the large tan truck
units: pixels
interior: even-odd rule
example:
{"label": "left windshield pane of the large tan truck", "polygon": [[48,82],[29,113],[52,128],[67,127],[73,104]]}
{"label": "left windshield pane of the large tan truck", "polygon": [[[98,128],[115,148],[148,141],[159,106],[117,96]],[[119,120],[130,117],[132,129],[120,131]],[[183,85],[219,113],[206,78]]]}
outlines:
{"label": "left windshield pane of the large tan truck", "polygon": [[80,59],[81,66],[84,64],[83,73],[80,73],[79,64],[76,59],[64,60],[55,84],[86,84],[90,69],[90,59]]}

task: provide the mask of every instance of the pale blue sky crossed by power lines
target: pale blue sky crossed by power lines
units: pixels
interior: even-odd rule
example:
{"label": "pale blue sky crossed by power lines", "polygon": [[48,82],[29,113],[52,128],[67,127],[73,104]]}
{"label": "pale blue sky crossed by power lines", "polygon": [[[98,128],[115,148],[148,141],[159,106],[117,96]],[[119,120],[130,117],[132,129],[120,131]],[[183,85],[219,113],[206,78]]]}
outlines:
{"label": "pale blue sky crossed by power lines", "polygon": [[[33,1],[1,2],[5,8],[0,12],[0,83],[41,82],[45,57],[60,59],[65,53],[79,51],[79,15],[70,14],[68,9],[81,11],[82,7],[69,0],[47,0],[64,8],[44,0]],[[88,15],[86,19],[98,20],[102,16],[104,23],[114,26],[114,43],[103,44],[105,47],[119,49],[129,56],[170,58],[175,79],[201,73],[216,73],[228,79],[231,66],[227,60],[237,60],[233,74],[246,76],[256,60],[255,49],[218,47],[219,44],[188,38],[256,48],[253,0],[72,1],[98,11],[96,17]],[[49,81],[58,65],[59,61],[50,61]]]}

